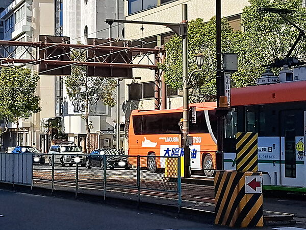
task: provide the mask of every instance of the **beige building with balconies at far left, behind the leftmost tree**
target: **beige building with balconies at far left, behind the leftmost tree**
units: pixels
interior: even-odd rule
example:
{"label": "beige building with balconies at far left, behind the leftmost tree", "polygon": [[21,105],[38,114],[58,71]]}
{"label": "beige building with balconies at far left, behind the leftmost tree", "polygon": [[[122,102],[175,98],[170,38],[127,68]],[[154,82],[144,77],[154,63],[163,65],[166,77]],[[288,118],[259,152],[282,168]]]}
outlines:
{"label": "beige building with balconies at far left, behind the leftmost tree", "polygon": [[[4,40],[37,41],[40,34],[54,34],[53,0],[15,0],[10,2],[0,15],[1,20],[4,21]],[[12,48],[8,48],[8,51],[12,51]],[[18,47],[13,52],[13,56],[15,58],[30,58],[29,54],[22,55],[23,52],[24,48]],[[37,71],[37,66],[29,65],[28,67]],[[39,147],[40,118],[55,116],[53,111],[55,107],[54,91],[54,77],[42,76],[36,87],[36,94],[40,97],[41,112],[33,114],[29,119],[20,119],[19,130],[16,130],[14,123],[9,123],[8,132],[3,134],[4,149],[16,146],[17,131],[20,135],[20,145]]]}

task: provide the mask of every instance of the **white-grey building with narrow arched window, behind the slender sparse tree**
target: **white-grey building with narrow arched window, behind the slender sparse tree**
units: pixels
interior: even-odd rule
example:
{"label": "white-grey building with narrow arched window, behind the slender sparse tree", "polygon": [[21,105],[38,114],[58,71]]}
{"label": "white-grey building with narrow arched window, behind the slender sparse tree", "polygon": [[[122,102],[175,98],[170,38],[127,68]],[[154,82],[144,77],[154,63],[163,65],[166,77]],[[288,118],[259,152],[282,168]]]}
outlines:
{"label": "white-grey building with narrow arched window, behind the slender sparse tree", "polygon": [[[124,18],[124,3],[118,0],[119,18]],[[108,38],[107,18],[116,18],[114,0],[55,0],[55,34],[70,37],[70,43],[87,43],[87,38]],[[123,38],[123,25],[112,29],[113,37]],[[120,105],[124,101],[124,85],[121,87]],[[62,76],[56,76],[56,117],[61,118],[62,133],[68,141],[85,146],[86,129],[82,119],[82,106],[70,101]],[[116,146],[114,124],[116,108],[105,106],[98,101],[90,109],[91,148]],[[123,110],[120,111],[120,123],[124,123]],[[122,134],[123,135],[123,134]],[[121,142],[123,137],[121,137]],[[121,143],[122,146],[122,143]]]}

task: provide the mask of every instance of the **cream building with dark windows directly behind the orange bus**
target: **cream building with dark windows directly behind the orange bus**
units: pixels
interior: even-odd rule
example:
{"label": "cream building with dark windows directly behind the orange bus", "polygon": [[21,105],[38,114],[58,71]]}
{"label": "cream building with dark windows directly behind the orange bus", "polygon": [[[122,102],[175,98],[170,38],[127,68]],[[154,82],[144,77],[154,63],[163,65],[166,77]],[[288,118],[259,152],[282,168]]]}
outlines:
{"label": "cream building with dark windows directly behind the orange bus", "polygon": [[[180,23],[182,4],[188,6],[188,20],[203,18],[209,21],[216,14],[216,1],[208,0],[130,0],[125,1],[126,20],[158,21]],[[227,17],[234,30],[241,30],[241,13],[248,0],[222,1],[222,17]],[[171,29],[157,25],[126,24],[125,39],[134,40],[134,45],[154,48],[167,43],[174,36]],[[138,58],[141,58],[139,56]],[[154,57],[152,61],[154,62]],[[155,73],[151,70],[134,69],[133,80],[125,79],[126,121],[129,121],[133,109],[155,109],[154,81]],[[135,79],[141,80],[135,80]],[[182,91],[167,88],[167,109],[183,106]],[[160,94],[161,95],[161,94]],[[128,126],[126,126],[128,127]],[[127,149],[127,141],[125,141]]]}

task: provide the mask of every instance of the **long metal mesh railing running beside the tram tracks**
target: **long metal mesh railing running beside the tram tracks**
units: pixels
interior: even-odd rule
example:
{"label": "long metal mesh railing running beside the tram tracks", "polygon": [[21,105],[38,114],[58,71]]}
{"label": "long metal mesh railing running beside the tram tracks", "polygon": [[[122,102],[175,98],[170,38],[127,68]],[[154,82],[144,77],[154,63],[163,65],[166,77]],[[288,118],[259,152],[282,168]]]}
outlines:
{"label": "long metal mesh railing running beside the tram tracks", "polygon": [[[18,156],[24,155],[25,159],[26,155],[27,162],[31,163],[26,170],[31,171],[31,183],[28,181],[28,184],[50,189],[52,193],[55,190],[70,191],[75,193],[75,198],[80,193],[102,195],[104,201],[114,194],[130,194],[137,196],[138,207],[141,197],[145,198],[148,194],[176,194],[176,205],[179,212],[181,210],[181,157],[43,154],[45,162],[35,162],[32,154],[3,154],[8,157],[5,164],[12,164],[9,162]],[[18,167],[22,171],[20,166]],[[3,168],[7,170],[4,165],[0,167],[1,171]],[[152,172],[154,169],[155,172]],[[4,181],[1,178],[0,180]],[[171,200],[174,200],[173,195]]]}

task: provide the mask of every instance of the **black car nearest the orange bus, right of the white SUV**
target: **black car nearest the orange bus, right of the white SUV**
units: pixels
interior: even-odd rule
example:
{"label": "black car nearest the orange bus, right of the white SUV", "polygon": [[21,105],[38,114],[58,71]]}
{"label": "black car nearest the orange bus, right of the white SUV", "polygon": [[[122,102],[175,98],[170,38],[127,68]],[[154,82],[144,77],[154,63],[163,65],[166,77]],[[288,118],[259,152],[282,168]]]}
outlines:
{"label": "black car nearest the orange bus, right of the white SUV", "polygon": [[[114,156],[112,156],[114,155]],[[120,156],[122,155],[122,156]],[[100,167],[103,169],[103,159],[106,158],[106,167],[108,169],[124,168],[131,169],[127,156],[116,149],[95,149],[86,156],[86,168]]]}

